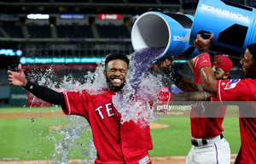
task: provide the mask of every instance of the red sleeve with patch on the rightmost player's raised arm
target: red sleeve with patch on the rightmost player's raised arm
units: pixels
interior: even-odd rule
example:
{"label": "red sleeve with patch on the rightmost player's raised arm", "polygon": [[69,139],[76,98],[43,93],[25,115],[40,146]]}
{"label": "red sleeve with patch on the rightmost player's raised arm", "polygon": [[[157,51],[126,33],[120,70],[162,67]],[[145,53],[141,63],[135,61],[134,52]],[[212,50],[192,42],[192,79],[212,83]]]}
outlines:
{"label": "red sleeve with patch on the rightmost player's raised arm", "polygon": [[219,80],[217,84],[219,101],[242,101],[250,93],[250,88],[241,79]]}

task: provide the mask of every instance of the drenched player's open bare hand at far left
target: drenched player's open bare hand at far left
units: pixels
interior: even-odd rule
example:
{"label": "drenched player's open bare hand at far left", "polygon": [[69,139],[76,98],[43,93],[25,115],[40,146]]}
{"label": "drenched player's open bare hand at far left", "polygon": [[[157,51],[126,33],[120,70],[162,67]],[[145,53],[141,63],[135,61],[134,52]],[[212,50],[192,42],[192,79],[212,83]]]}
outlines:
{"label": "drenched player's open bare hand at far left", "polygon": [[19,71],[8,71],[9,84],[14,86],[26,86],[27,80],[25,78],[24,71],[22,71],[21,65],[18,66]]}

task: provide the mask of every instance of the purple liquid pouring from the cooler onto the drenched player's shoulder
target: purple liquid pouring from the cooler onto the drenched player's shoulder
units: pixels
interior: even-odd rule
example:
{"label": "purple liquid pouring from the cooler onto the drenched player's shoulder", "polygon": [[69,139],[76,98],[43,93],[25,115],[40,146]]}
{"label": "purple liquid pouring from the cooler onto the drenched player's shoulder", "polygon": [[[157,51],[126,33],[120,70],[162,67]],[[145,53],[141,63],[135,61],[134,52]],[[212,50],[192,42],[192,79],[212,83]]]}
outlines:
{"label": "purple liquid pouring from the cooler onto the drenched player's shoulder", "polygon": [[153,109],[160,93],[161,77],[147,72],[164,48],[143,48],[131,54],[125,87],[113,96],[113,105],[122,116],[121,123],[140,122],[147,126],[154,120]]}

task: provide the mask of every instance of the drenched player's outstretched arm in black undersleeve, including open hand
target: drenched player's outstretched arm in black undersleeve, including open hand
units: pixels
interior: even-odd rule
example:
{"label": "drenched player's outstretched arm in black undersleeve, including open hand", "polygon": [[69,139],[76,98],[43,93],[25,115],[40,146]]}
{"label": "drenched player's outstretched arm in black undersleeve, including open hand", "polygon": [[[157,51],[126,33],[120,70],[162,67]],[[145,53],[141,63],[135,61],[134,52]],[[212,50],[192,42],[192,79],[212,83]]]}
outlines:
{"label": "drenched player's outstretched arm in black undersleeve, including open hand", "polygon": [[33,93],[39,99],[51,104],[61,105],[63,109],[67,109],[63,93],[58,93],[50,88],[27,81],[21,65],[18,66],[18,69],[19,71],[8,71],[10,85],[26,88],[27,91]]}

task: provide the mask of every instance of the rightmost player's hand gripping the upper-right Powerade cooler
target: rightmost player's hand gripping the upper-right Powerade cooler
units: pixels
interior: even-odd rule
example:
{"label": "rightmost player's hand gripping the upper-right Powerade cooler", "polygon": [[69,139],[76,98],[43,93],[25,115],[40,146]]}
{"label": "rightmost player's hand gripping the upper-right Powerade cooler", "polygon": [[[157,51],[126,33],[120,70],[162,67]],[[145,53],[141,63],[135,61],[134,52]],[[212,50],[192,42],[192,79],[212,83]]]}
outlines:
{"label": "rightmost player's hand gripping the upper-right Powerade cooler", "polygon": [[204,39],[201,37],[201,34],[197,34],[194,42],[194,46],[198,51],[201,51],[203,49],[208,49],[211,45],[212,39],[213,39],[213,34],[211,34],[211,37],[209,37],[208,39]]}

